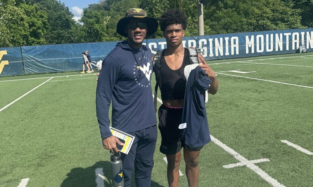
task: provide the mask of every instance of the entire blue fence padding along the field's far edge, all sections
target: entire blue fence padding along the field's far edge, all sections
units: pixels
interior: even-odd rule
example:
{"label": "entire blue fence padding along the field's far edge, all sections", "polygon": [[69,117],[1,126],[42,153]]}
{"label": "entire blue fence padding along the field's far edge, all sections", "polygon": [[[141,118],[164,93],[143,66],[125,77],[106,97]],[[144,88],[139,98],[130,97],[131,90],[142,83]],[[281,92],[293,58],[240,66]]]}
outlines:
{"label": "entire blue fence padding along the field's far edge, all sections", "polygon": [[[2,60],[9,61],[0,77],[79,71],[83,66],[82,52],[88,50],[92,61],[101,62],[117,42],[0,48],[7,51]],[[147,43],[154,54],[167,48],[164,38],[143,43]],[[205,60],[296,53],[300,52],[300,46],[310,52],[313,51],[313,28],[184,37],[183,46],[202,48]]]}

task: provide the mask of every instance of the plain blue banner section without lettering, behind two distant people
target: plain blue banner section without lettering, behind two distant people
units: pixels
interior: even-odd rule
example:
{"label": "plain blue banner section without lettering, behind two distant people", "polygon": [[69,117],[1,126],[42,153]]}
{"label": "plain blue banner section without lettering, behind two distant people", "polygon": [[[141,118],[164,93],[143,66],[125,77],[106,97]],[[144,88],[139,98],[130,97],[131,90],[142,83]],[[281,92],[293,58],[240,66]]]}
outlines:
{"label": "plain blue banner section without lettering, behind two distant people", "polygon": [[103,60],[117,42],[24,46],[25,74],[78,71],[83,67],[82,52],[89,51],[92,61]]}

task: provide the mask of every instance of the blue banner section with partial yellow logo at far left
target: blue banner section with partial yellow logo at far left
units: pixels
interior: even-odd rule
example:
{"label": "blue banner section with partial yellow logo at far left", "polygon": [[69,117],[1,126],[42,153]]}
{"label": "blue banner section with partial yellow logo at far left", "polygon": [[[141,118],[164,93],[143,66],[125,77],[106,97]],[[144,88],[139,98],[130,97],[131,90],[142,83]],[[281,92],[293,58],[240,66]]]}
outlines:
{"label": "blue banner section with partial yellow logo at far left", "polygon": [[0,77],[23,74],[21,48],[0,48]]}

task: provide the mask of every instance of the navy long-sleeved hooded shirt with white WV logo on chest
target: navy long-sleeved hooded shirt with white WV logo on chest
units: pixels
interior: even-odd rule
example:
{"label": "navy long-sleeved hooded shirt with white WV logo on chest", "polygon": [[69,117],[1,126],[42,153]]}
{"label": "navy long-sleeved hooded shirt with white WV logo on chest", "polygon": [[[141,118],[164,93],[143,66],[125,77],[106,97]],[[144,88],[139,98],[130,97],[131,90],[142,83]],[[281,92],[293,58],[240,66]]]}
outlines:
{"label": "navy long-sleeved hooded shirt with white WV logo on chest", "polygon": [[135,132],[157,123],[151,90],[151,50],[142,46],[139,50],[134,49],[134,55],[127,41],[123,41],[102,62],[96,90],[96,110],[102,138],[112,136],[109,129],[111,103],[112,127],[123,132]]}

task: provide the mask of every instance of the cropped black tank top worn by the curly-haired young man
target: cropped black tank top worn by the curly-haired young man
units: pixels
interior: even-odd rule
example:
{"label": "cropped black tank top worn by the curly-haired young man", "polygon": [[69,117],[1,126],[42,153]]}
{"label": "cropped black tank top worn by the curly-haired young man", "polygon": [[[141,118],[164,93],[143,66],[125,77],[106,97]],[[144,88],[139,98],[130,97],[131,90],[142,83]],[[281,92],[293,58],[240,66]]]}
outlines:
{"label": "cropped black tank top worn by the curly-haired young man", "polygon": [[186,65],[190,65],[190,57],[188,49],[185,48],[182,66],[177,70],[172,70],[166,64],[164,59],[164,51],[160,59],[160,90],[162,100],[183,99],[186,88],[186,78],[184,69]]}

